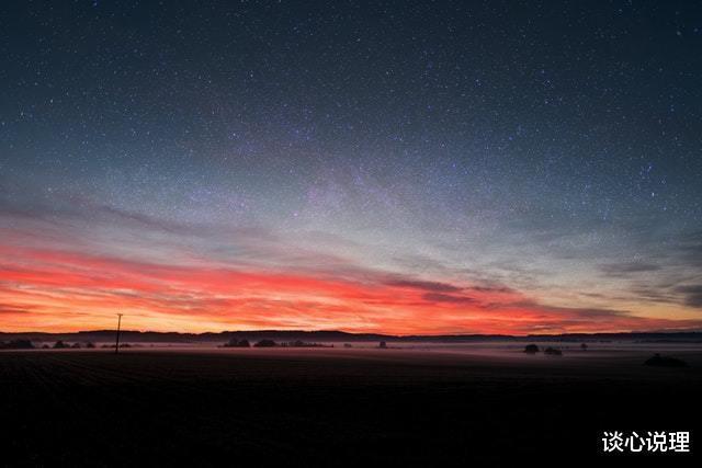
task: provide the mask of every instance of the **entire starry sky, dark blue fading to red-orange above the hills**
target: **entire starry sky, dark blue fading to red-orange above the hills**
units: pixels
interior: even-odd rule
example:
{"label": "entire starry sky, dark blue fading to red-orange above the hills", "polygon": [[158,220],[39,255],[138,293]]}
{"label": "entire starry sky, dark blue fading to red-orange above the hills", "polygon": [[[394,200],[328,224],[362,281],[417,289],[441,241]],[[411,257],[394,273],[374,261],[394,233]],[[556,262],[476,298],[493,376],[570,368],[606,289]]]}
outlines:
{"label": "entire starry sky, dark blue fading to red-orange above the hills", "polygon": [[702,4],[4,1],[0,330],[702,330]]}

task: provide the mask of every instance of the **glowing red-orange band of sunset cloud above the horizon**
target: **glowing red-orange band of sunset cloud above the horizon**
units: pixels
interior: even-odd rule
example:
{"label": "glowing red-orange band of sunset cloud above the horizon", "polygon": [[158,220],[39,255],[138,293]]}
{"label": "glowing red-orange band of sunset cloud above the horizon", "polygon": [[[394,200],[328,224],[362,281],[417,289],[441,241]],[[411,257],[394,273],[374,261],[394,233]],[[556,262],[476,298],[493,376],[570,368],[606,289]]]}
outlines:
{"label": "glowing red-orange band of sunset cloud above the horizon", "polygon": [[[329,272],[159,264],[0,246],[0,329],[171,331],[340,329],[356,332],[530,333],[700,327],[623,311],[555,308],[508,287],[423,281],[356,269]],[[359,273],[361,272],[361,273]]]}

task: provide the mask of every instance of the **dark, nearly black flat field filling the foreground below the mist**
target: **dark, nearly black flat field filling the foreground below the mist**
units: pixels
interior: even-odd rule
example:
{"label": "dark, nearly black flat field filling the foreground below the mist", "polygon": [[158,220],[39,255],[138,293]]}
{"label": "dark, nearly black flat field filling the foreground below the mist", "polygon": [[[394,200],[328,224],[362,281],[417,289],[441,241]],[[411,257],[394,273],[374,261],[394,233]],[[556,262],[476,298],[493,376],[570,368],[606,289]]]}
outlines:
{"label": "dark, nearly black flat field filling the foreground below the mist", "polygon": [[648,368],[649,354],[2,352],[1,463],[480,466],[520,457],[566,467],[622,461],[599,455],[601,431],[614,429],[693,431],[694,453],[702,357],[678,353],[691,367]]}

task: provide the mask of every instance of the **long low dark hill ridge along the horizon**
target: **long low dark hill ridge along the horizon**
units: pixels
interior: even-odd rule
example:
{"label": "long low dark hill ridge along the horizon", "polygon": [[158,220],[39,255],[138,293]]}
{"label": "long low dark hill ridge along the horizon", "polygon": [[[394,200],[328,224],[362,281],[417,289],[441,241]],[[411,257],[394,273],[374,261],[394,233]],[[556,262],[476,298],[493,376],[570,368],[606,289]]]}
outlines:
{"label": "long low dark hill ridge along the horizon", "polygon": [[[45,332],[0,332],[0,341],[31,340],[34,342],[87,342],[114,341],[114,330],[92,330],[72,333]],[[274,340],[305,342],[360,342],[360,341],[404,341],[424,343],[462,343],[472,341],[636,341],[647,343],[678,342],[702,343],[702,332],[636,332],[636,333],[566,333],[566,334],[532,334],[513,336],[506,334],[446,334],[446,335],[393,335],[381,333],[348,333],[338,330],[253,330],[253,331],[223,331],[218,333],[178,333],[156,331],[123,330],[121,340],[132,343],[223,343],[231,339],[237,340]]]}

